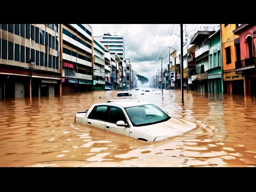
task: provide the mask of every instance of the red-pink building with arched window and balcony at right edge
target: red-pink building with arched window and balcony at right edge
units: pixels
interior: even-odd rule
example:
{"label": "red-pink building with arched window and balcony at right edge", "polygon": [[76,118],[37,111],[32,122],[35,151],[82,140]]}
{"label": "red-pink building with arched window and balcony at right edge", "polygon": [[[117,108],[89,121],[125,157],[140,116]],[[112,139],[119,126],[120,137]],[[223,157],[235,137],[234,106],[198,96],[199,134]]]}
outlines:
{"label": "red-pink building with arched window and balcony at right edge", "polygon": [[[233,30],[239,36],[240,58],[235,62],[236,74],[244,76],[244,95],[256,95],[256,25],[243,24]],[[239,51],[237,51],[239,52]]]}

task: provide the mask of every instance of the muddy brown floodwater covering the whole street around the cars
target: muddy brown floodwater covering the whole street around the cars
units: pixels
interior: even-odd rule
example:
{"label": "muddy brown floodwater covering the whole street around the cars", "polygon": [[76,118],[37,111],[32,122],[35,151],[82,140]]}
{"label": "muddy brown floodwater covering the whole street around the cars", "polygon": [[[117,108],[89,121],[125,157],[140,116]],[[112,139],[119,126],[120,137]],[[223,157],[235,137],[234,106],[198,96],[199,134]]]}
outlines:
{"label": "muddy brown floodwater covering the whole street around the cars", "polygon": [[77,111],[117,99],[117,91],[0,100],[0,166],[256,165],[254,97],[219,98],[185,91],[182,106],[180,90],[129,92],[132,99],[153,102],[170,116],[196,123],[196,129],[164,141],[145,142],[74,122]]}

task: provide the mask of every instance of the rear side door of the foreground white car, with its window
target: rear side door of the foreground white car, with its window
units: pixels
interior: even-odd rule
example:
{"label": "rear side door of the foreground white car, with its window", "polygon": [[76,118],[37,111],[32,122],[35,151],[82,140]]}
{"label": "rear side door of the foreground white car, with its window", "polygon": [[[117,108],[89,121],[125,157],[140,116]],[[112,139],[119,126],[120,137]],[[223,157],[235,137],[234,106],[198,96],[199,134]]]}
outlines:
{"label": "rear side door of the foreground white car, with its window", "polygon": [[95,106],[87,118],[87,125],[105,130],[108,106]]}

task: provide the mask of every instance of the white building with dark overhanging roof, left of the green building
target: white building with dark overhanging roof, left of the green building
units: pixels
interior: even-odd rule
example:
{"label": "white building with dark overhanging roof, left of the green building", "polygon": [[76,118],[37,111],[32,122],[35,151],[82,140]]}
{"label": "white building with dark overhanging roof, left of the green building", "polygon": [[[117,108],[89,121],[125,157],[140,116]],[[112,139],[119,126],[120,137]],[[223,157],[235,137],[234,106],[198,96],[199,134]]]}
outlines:
{"label": "white building with dark overhanging roof, left of the green building", "polygon": [[199,93],[208,91],[208,75],[209,69],[209,36],[215,31],[197,31],[191,38],[189,44],[196,45],[196,75],[191,76],[191,81],[195,84],[195,89]]}

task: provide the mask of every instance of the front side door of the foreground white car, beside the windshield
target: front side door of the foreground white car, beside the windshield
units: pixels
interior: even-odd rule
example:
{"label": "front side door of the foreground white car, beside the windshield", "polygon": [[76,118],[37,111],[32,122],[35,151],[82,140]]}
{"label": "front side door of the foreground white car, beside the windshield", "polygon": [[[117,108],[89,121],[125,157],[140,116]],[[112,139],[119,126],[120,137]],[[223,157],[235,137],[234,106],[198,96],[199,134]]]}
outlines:
{"label": "front side door of the foreground white car, beside the windshield", "polygon": [[124,115],[124,112],[121,108],[110,106],[109,120],[108,122],[106,122],[105,130],[129,136],[130,127],[117,126],[116,125],[117,121],[124,121],[125,123],[127,123],[126,116]]}

